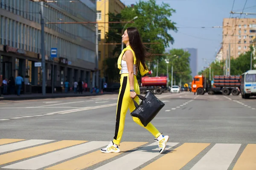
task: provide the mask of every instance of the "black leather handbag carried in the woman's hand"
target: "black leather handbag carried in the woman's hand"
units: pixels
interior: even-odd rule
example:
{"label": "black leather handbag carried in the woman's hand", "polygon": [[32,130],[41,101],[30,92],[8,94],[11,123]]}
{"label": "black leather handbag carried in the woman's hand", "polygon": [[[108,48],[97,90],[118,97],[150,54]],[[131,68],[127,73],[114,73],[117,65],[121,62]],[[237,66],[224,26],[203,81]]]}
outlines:
{"label": "black leather handbag carried in the woman's hand", "polygon": [[131,112],[131,116],[139,118],[140,122],[146,127],[165,104],[157,99],[151,91],[148,91],[145,97],[137,96],[142,99],[142,102],[138,105],[133,99],[136,109]]}

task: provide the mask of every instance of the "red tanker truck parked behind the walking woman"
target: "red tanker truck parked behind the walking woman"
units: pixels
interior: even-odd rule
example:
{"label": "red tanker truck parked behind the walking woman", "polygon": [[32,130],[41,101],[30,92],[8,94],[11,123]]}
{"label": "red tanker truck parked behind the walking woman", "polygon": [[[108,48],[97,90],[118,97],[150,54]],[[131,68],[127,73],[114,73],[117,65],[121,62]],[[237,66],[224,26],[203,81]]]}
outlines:
{"label": "red tanker truck parked behind the walking woman", "polygon": [[142,77],[140,93],[145,94],[147,91],[152,91],[154,94],[169,92],[167,77]]}

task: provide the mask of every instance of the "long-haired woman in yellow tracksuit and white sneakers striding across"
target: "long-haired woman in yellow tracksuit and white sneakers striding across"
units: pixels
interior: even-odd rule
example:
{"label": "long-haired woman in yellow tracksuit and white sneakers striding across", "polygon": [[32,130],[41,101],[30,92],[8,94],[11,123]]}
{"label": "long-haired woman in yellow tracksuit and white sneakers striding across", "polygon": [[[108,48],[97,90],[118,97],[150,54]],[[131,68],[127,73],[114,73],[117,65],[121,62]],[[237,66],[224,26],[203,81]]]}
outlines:
{"label": "long-haired woman in yellow tracksuit and white sneakers striding across", "polygon": [[[123,49],[117,61],[117,66],[121,70],[121,90],[119,91],[116,108],[115,136],[107,147],[101,149],[101,152],[103,153],[120,152],[118,145],[122,139],[126,112],[128,111],[128,108],[130,109],[130,112],[135,109],[132,99],[139,104],[137,94],[140,94],[140,87],[136,77],[137,71],[139,71],[139,74],[142,76],[148,73],[148,67],[145,62],[146,59],[151,56],[141,42],[137,28],[127,28],[122,35],[122,43],[126,44],[126,48]],[[133,120],[144,127],[139,118],[133,117]],[[166,147],[166,142],[169,140],[169,136],[163,136],[151,122],[144,128],[156,138],[154,140],[158,143],[159,153],[163,153]]]}

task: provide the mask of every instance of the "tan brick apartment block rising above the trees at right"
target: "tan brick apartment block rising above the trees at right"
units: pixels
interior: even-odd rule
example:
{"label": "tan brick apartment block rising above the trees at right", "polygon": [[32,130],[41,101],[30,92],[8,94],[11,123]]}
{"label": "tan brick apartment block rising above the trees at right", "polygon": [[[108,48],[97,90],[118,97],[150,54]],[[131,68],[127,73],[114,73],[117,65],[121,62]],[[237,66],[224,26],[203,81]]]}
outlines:
{"label": "tan brick apartment block rising above the trees at right", "polygon": [[222,59],[237,58],[240,54],[249,51],[253,36],[256,35],[256,18],[224,18],[222,30]]}

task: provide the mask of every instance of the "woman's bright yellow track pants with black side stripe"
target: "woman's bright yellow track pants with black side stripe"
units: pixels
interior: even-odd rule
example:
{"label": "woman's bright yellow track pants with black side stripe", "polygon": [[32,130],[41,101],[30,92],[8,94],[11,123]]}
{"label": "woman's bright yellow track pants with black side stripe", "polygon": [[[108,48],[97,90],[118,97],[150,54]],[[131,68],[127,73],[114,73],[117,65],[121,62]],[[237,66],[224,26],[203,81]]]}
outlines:
{"label": "woman's bright yellow track pants with black side stripe", "polygon": [[[115,144],[119,144],[122,139],[122,133],[125,126],[125,116],[128,111],[128,108],[130,109],[130,112],[134,111],[135,109],[134,102],[130,97],[130,83],[129,83],[128,74],[121,74],[120,84],[121,84],[121,87],[119,90],[118,102],[116,107],[116,130],[115,130],[115,136],[113,139],[113,142]],[[140,87],[135,75],[134,75],[134,90],[136,94],[140,94]],[[136,96],[134,100],[139,104],[138,96]],[[134,122],[144,127],[143,124],[140,122],[139,118],[137,117],[132,117],[132,118]],[[152,133],[152,135],[155,138],[160,136],[160,132],[157,130],[156,127],[152,125],[152,123],[148,123],[148,125],[144,128],[147,129],[150,133]]]}

